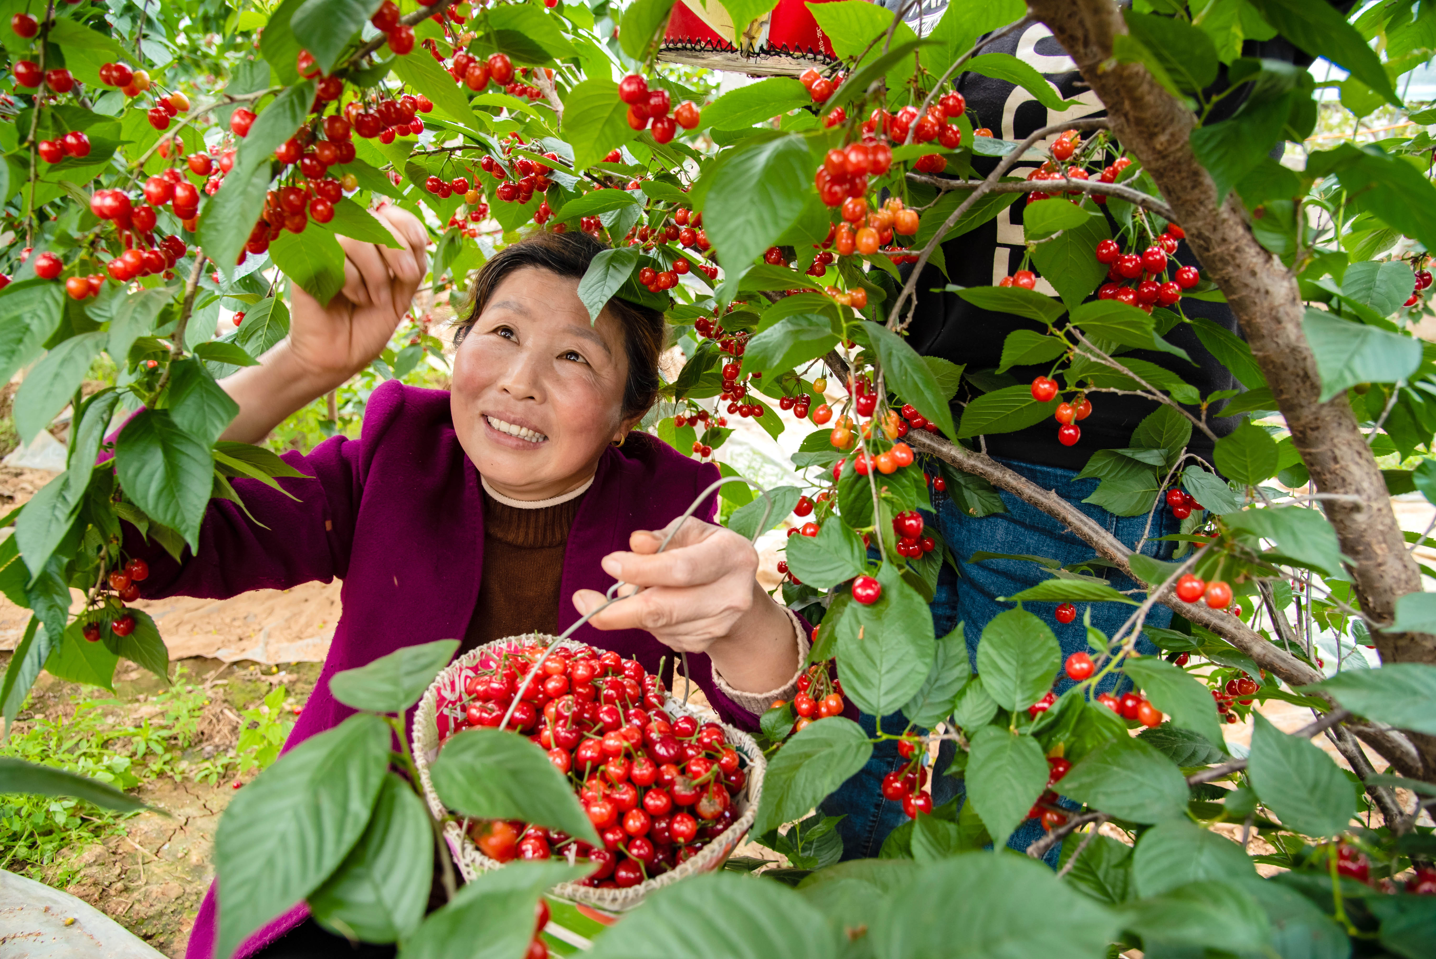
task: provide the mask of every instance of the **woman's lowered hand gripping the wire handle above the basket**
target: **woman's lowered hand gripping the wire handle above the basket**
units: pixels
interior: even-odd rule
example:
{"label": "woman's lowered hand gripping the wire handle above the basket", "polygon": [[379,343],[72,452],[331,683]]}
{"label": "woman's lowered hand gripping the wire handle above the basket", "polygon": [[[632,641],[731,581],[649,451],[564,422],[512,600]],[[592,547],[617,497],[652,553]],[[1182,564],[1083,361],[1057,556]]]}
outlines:
{"label": "woman's lowered hand gripping the wire handle above the basket", "polygon": [[[663,553],[663,530],[639,530],[629,553],[603,557],[603,570],[643,590],[589,620],[597,629],[643,629],[679,652],[708,653],[738,689],[783,686],[797,670],[793,620],[755,579],[758,553],[747,538],[689,517]],[[628,591],[625,589],[625,591]],[[602,593],[579,590],[580,613],[602,604]]]}

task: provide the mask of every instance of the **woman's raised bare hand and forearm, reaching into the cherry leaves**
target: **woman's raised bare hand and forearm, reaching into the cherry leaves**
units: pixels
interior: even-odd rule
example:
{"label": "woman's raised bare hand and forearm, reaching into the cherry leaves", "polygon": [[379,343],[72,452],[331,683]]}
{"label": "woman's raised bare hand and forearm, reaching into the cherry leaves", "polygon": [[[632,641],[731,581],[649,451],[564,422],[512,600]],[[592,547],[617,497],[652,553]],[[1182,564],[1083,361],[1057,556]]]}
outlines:
{"label": "woman's raised bare hand and forearm, reaching into the cherry leaves", "polygon": [[399,248],[339,237],[345,286],[326,306],[293,287],[289,337],[220,386],[240,405],[221,439],[260,442],[286,416],[336,389],[383,352],[424,281],[428,233],[398,207],[375,211]]}

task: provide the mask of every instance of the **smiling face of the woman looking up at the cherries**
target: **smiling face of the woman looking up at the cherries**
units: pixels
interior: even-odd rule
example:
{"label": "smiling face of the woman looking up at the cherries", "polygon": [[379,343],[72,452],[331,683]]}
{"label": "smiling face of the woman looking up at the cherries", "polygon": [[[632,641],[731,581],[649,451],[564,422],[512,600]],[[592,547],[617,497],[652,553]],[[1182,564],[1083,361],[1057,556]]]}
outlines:
{"label": "smiling face of the woman looking up at the cherries", "polygon": [[547,500],[582,485],[628,432],[626,379],[619,322],[605,310],[590,324],[577,280],[523,267],[460,343],[454,428],[494,490]]}

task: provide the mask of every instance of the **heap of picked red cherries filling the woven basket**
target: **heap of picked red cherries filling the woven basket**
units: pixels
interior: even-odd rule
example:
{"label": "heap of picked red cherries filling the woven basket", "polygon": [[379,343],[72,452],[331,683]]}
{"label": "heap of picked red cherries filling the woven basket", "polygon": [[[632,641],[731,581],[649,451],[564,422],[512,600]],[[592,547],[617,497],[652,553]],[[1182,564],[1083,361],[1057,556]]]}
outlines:
{"label": "heap of picked red cherries filling the woven basket", "polygon": [[511,725],[569,777],[603,844],[497,820],[471,830],[485,856],[549,859],[573,847],[597,866],[584,884],[622,889],[692,859],[732,825],[748,777],[722,726],[666,714],[662,680],[612,650],[554,652],[524,686],[543,652],[524,646],[471,676],[465,719],[495,728],[513,705]]}

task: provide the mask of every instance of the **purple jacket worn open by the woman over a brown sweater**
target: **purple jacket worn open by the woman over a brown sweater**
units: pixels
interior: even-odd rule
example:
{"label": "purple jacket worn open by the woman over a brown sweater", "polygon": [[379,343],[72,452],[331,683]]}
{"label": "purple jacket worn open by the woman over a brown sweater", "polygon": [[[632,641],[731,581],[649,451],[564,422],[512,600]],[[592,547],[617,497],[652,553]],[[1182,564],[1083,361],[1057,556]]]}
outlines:
{"label": "purple jacket worn open by the woman over a brown sweater", "polygon": [[[415,643],[462,637],[478,600],[482,573],[484,511],[478,471],[460,446],[449,395],[389,380],[373,392],[356,441],[335,436],[307,457],[286,461],[312,480],[280,480],[297,501],[257,480],[234,487],[254,517],[214,500],[200,533],[200,551],[175,563],[129,530],[125,548],[149,563],[145,597],[225,599],[254,589],[289,589],[312,580],[345,581],[343,616],[319,683],[284,748],[337,725],[353,709],[329,693],[329,678]],[[579,619],[569,597],[576,590],[607,590],[613,577],[599,561],[628,550],[635,530],[656,530],[678,517],[718,478],[645,434],[630,434],[599,461],[593,487],[573,521],[564,550],[559,627]],[[717,495],[695,513],[714,521]],[[656,672],[672,650],[643,630],[605,632],[584,624],[574,639]],[[748,729],[757,716],[728,699],[712,682],[704,655],[688,658],[694,682],[725,721]],[[307,914],[302,904],[251,936],[247,956],[289,932]],[[217,913],[210,887],[187,959],[211,959]]]}

